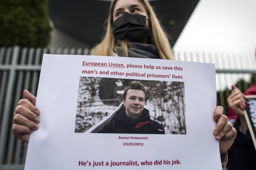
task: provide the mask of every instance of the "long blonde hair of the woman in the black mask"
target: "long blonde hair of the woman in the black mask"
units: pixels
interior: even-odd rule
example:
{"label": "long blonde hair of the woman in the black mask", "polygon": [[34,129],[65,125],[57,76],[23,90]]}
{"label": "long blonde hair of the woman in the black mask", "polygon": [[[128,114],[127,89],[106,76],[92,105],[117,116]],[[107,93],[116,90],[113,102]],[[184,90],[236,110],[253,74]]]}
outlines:
{"label": "long blonde hair of the woman in the black mask", "polygon": [[[118,55],[116,50],[116,39],[112,33],[112,24],[113,24],[113,10],[115,4],[118,0],[113,0],[110,5],[109,15],[108,15],[108,24],[106,29],[106,34],[103,40],[91,49],[91,55],[102,55],[102,56],[113,56],[115,52]],[[148,43],[151,43],[157,49],[161,59],[174,59],[172,50],[168,41],[168,36],[163,30],[159,20],[157,19],[152,7],[150,6],[147,0],[140,0],[143,3],[150,20],[150,35],[148,37]],[[124,57],[128,56],[128,45],[129,43],[124,40],[119,40],[121,47],[124,51]]]}

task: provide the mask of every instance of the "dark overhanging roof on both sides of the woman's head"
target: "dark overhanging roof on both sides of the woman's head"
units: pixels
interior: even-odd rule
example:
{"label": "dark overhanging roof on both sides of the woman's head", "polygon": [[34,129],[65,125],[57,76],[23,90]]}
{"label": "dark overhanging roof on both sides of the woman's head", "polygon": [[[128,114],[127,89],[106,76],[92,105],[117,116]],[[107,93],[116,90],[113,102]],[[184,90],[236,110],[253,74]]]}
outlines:
{"label": "dark overhanging roof on both sides of the woman's head", "polygon": [[[172,38],[174,45],[199,0],[152,0],[150,4]],[[50,17],[55,27],[70,36],[95,45],[104,35],[110,1],[50,0]]]}

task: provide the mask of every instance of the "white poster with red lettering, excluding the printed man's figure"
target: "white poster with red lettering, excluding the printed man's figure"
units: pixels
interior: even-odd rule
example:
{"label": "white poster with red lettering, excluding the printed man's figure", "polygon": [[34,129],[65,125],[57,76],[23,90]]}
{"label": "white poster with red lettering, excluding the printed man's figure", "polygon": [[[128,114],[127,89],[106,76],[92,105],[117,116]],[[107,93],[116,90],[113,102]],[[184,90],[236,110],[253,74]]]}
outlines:
{"label": "white poster with red lettering, excluding the printed man's figure", "polygon": [[[100,133],[132,80],[147,89],[144,108],[165,134]],[[215,64],[45,54],[36,107],[26,170],[221,169]]]}

